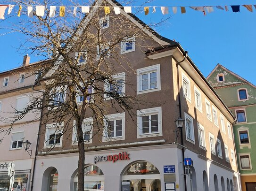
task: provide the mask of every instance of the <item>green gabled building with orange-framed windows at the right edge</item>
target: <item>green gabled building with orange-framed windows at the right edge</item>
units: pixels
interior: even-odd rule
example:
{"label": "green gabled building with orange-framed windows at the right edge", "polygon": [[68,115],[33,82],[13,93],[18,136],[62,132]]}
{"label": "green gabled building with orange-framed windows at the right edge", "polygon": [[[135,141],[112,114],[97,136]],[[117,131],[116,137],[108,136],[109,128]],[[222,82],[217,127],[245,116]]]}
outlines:
{"label": "green gabled building with orange-framed windows at the right edge", "polygon": [[256,86],[218,64],[207,80],[229,107],[243,191],[256,189]]}

